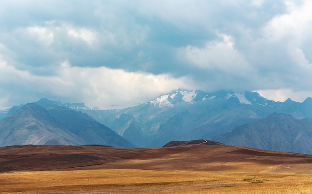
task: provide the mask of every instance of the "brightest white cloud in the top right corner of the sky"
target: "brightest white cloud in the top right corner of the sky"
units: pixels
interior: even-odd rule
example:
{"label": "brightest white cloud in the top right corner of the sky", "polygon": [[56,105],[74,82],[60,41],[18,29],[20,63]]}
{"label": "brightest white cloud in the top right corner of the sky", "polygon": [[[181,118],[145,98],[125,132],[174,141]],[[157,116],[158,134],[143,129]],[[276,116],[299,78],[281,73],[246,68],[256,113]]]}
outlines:
{"label": "brightest white cloud in the top right corner of the sky", "polygon": [[311,42],[312,34],[312,1],[305,0],[302,4],[286,1],[288,13],[278,15],[262,28],[262,41],[267,44],[284,45],[287,54],[294,61],[293,65],[308,65],[305,57],[306,48],[303,44]]}

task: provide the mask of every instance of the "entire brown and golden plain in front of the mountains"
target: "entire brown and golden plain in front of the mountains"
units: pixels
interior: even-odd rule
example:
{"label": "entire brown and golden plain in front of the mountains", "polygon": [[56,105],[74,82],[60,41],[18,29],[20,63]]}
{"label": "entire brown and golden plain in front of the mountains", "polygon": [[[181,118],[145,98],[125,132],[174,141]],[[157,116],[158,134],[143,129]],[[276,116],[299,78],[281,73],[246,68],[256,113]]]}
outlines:
{"label": "entire brown and golden plain in front of the mountains", "polygon": [[227,145],[0,148],[3,194],[310,194],[312,156]]}

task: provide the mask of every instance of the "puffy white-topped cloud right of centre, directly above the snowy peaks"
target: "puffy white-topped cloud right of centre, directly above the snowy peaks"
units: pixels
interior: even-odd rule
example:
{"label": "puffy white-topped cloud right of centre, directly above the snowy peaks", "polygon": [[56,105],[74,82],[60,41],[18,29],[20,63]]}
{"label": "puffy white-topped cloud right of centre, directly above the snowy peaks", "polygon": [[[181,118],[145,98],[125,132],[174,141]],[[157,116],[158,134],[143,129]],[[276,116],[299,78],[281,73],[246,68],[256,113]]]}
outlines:
{"label": "puffy white-topped cloud right of centre, directly above the snowy peaks", "polygon": [[[178,54],[181,63],[192,68],[193,79],[203,82],[205,90],[232,89],[247,90],[252,88],[255,69],[242,53],[235,48],[234,38],[216,32],[217,40],[207,41],[203,47],[188,45],[180,48]],[[198,77],[202,74],[201,77]]]}

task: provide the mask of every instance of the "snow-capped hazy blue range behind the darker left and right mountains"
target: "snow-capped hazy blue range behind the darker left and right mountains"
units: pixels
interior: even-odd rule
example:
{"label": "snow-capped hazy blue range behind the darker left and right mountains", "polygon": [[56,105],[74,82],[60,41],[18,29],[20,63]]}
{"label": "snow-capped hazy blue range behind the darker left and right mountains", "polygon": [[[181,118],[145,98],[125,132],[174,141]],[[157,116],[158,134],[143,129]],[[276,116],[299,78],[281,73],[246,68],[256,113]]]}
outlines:
{"label": "snow-capped hazy blue range behind the darker left and right mountains", "polygon": [[312,118],[312,98],[302,103],[291,99],[275,102],[257,92],[206,93],[178,89],[121,110],[90,109],[83,103],[62,104],[47,99],[40,99],[36,104],[51,114],[53,111],[48,109],[51,105],[87,113],[137,147],[160,147],[172,140],[211,139],[237,126],[260,121],[274,112],[296,119]]}

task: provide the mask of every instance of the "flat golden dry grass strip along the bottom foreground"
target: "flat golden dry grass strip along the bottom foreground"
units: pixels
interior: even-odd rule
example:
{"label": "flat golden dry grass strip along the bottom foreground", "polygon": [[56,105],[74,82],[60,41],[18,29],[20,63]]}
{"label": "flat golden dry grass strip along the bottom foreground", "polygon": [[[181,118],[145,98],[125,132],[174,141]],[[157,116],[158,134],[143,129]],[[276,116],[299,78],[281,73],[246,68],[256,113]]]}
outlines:
{"label": "flat golden dry grass strip along the bottom foreground", "polygon": [[0,193],[309,194],[312,175],[133,169],[0,174]]}

